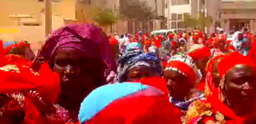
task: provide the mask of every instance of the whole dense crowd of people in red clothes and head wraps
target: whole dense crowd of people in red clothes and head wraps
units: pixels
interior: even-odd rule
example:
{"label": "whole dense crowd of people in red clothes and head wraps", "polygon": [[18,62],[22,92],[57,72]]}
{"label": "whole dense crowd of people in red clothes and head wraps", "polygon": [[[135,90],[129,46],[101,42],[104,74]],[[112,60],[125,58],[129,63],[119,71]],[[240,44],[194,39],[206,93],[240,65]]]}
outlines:
{"label": "whole dense crowd of people in red clothes and head wraps", "polygon": [[247,30],[108,36],[55,30],[34,55],[0,41],[0,124],[255,124]]}

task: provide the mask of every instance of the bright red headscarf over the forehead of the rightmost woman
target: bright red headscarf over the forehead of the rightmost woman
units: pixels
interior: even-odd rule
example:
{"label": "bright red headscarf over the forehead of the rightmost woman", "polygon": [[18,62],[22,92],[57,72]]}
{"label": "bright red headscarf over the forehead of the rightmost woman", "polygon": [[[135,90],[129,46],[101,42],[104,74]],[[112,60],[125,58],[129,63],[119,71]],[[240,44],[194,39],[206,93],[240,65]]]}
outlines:
{"label": "bright red headscarf over the forehead of the rightmost woman", "polygon": [[237,64],[246,64],[251,67],[255,67],[254,63],[248,56],[243,56],[238,52],[232,52],[230,53],[225,59],[221,60],[219,63],[219,72],[220,77],[223,77],[223,75],[232,67],[236,66]]}

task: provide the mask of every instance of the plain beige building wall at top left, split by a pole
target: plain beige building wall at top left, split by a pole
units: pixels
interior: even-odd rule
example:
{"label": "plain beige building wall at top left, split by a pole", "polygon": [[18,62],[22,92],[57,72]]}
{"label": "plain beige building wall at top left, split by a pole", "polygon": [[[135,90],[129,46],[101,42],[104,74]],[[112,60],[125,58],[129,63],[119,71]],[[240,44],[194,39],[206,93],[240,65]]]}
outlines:
{"label": "plain beige building wall at top left, split by a pole", "polygon": [[[15,29],[18,32],[0,32],[0,39],[4,41],[27,40],[31,42],[33,50],[37,50],[45,40],[45,13],[44,2],[37,0],[0,0],[0,29]],[[68,9],[67,9],[68,8]],[[28,16],[33,18],[21,18],[18,25],[17,18],[10,16]],[[75,0],[62,0],[52,2],[52,29],[64,26],[64,19],[75,19]],[[22,26],[23,23],[33,22],[39,26]]]}

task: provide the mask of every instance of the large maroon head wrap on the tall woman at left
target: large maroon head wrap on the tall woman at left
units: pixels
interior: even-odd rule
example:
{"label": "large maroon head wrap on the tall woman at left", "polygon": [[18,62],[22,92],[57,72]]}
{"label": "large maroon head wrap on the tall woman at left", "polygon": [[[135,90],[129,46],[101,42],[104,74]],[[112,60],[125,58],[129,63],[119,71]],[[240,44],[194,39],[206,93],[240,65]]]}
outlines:
{"label": "large maroon head wrap on the tall woman at left", "polygon": [[74,24],[55,30],[38,51],[33,67],[54,60],[56,51],[61,48],[80,50],[81,54],[100,58],[108,68],[116,70],[115,56],[110,50],[108,37],[95,25]]}

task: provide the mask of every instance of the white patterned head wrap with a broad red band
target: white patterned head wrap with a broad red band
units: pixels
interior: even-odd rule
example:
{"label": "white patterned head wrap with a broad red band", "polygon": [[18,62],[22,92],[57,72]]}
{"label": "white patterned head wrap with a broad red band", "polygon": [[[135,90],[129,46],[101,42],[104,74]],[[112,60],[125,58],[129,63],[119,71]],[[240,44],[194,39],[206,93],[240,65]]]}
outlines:
{"label": "white patterned head wrap with a broad red band", "polygon": [[193,62],[192,58],[188,55],[175,55],[172,56],[165,68],[166,71],[172,70],[187,76],[192,84],[199,83],[202,74]]}

